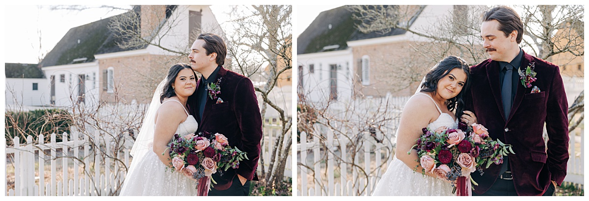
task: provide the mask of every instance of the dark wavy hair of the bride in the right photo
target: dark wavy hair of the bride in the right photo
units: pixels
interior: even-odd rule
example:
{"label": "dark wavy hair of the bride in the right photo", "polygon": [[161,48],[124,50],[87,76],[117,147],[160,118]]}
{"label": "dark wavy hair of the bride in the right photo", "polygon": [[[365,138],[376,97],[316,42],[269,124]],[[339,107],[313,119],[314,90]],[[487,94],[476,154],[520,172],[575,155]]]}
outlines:
{"label": "dark wavy hair of the bride in the right photo", "polygon": [[440,61],[434,68],[432,68],[426,75],[425,75],[425,82],[421,84],[421,91],[420,92],[433,92],[436,94],[436,90],[438,89],[438,81],[444,78],[452,69],[460,68],[464,73],[466,73],[466,82],[464,86],[462,86],[462,90],[458,95],[454,98],[446,100],[446,106],[448,110],[455,111],[456,118],[460,118],[462,116],[462,112],[464,112],[464,100],[462,99],[462,95],[471,85],[470,78],[470,68],[468,64],[464,61],[464,59],[459,58],[458,56],[448,56],[442,61]]}

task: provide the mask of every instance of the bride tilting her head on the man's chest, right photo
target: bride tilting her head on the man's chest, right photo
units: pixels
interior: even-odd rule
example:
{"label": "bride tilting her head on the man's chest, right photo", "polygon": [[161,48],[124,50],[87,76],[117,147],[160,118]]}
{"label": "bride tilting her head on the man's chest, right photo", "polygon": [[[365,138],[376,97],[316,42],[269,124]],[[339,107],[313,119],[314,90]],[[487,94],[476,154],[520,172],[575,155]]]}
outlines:
{"label": "bride tilting her head on the man's chest, right photo", "polygon": [[462,100],[462,92],[470,83],[468,76],[468,65],[456,56],[442,59],[425,75],[421,91],[403,108],[395,158],[376,185],[373,196],[452,196],[452,181],[437,179],[429,172],[422,175],[417,152],[411,148],[424,127],[456,129],[462,114],[464,122],[476,122],[474,114],[464,110]]}

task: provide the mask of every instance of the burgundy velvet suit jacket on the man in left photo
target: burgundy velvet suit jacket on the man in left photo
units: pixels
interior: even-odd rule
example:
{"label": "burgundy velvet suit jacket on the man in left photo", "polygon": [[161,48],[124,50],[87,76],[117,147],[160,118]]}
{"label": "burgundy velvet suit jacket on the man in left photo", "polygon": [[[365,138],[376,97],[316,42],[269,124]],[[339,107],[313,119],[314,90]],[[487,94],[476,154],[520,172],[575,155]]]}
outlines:
{"label": "burgundy velvet suit jacket on the man in left photo", "polygon": [[[231,186],[233,178],[239,174],[248,180],[257,180],[256,169],[260,158],[260,140],[262,140],[262,116],[258,106],[256,92],[252,81],[239,73],[227,71],[223,66],[219,69],[213,82],[221,79],[220,95],[217,97],[223,103],[212,100],[207,93],[207,102],[204,106],[203,118],[198,122],[197,132],[221,133],[229,140],[231,147],[247,152],[247,158],[240,162],[237,169],[229,168],[223,171],[222,176],[213,174],[217,182],[213,185],[217,190],[226,190]],[[204,86],[197,82],[196,89]],[[190,115],[198,115],[198,100],[194,93],[188,98],[188,110]]]}

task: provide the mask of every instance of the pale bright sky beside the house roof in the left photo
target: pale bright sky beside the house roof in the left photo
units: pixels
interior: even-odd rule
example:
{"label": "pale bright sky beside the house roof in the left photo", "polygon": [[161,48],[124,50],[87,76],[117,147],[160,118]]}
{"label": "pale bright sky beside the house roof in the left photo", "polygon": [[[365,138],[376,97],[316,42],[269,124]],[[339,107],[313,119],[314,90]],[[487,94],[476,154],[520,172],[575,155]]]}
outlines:
{"label": "pale bright sky beside the house roof in the left photo", "polygon": [[[229,11],[229,6],[213,5],[211,10],[219,24],[227,21],[226,13]],[[126,11],[98,8],[84,11],[51,11],[48,6],[19,5],[5,6],[4,12],[3,62],[38,63],[39,55],[51,51],[71,28]],[[39,51],[39,36],[41,36],[41,51]]]}

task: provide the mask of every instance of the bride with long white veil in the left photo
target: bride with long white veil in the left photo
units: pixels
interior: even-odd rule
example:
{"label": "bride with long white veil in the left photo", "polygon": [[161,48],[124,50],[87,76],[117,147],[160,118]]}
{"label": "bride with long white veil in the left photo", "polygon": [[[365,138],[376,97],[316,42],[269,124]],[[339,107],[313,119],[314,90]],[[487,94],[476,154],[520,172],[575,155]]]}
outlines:
{"label": "bride with long white veil in the left photo", "polygon": [[170,68],[166,79],[155,90],[143,128],[131,150],[133,163],[125,176],[121,196],[197,195],[194,180],[170,172],[173,166],[167,150],[174,134],[184,136],[198,128],[186,109],[188,96],[195,89],[196,74],[190,65],[177,63]]}

